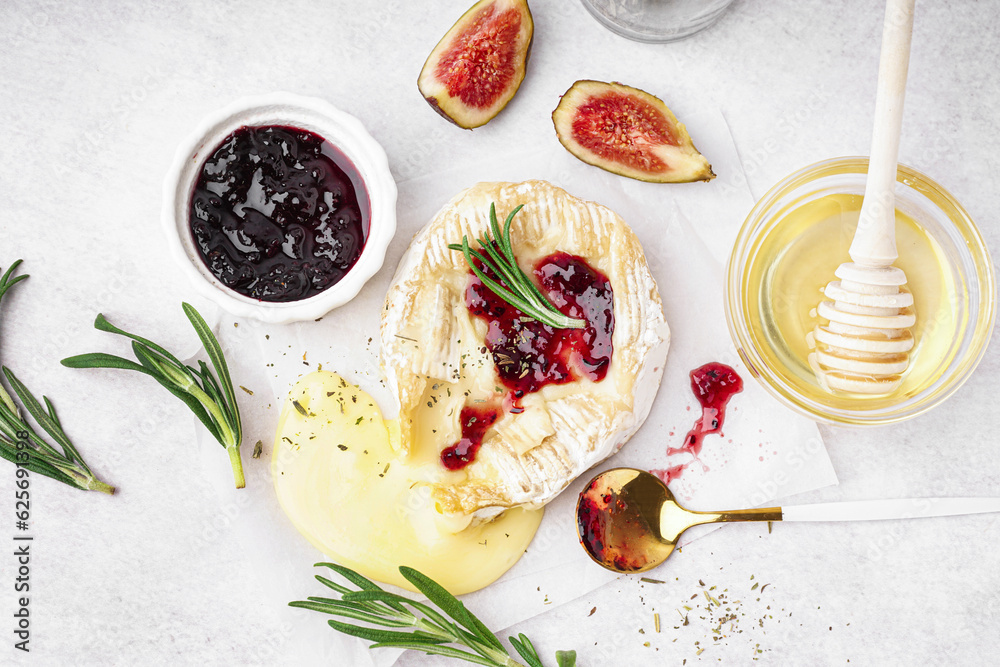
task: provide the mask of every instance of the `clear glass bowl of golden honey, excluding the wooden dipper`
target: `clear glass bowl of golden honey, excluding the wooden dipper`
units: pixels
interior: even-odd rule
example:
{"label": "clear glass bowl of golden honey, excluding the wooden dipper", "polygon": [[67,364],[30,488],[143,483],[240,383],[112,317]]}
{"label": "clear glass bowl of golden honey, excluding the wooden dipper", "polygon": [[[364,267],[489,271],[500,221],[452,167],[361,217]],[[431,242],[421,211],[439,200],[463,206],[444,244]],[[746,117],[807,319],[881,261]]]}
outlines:
{"label": "clear glass bowl of golden honey, excluding the wooden dipper", "polygon": [[850,261],[867,173],[868,158],[843,157],[782,180],[750,212],[726,270],[726,319],[751,374],[812,419],[858,426],[909,419],[948,398],[982,359],[996,318],[996,276],[975,223],[943,187],[900,165],[895,266],[916,311],[909,366],[885,396],[822,386],[809,363],[816,307]]}

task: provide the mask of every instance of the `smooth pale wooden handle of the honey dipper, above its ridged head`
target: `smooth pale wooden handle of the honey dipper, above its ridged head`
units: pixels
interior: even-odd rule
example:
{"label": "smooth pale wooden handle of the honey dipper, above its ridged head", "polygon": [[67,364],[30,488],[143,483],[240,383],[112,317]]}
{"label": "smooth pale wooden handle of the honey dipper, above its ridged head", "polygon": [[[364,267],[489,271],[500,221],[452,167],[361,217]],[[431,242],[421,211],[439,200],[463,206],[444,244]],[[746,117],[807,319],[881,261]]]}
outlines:
{"label": "smooth pale wooden handle of the honey dipper, above its ridged head", "polygon": [[858,264],[889,266],[897,257],[896,164],[906,74],[910,63],[914,2],[886,2],[868,181],[858,229],[850,249],[851,259]]}

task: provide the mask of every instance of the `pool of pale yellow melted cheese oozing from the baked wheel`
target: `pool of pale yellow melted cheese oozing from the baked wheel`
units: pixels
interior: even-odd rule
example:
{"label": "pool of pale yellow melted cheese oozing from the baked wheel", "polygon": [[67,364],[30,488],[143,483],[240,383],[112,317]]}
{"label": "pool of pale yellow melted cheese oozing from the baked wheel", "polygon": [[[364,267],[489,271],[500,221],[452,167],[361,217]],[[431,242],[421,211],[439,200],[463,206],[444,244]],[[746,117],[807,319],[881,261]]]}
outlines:
{"label": "pool of pale yellow melted cheese oozing from the baked wheel", "polygon": [[[419,431],[439,423],[421,424]],[[292,389],[278,422],[271,469],[278,501],[295,527],[338,563],[413,590],[413,567],[454,594],[489,585],[517,562],[541,510],[515,508],[486,523],[444,515],[431,486],[449,472],[430,439],[400,447],[399,424],[335,373],[319,371]]]}

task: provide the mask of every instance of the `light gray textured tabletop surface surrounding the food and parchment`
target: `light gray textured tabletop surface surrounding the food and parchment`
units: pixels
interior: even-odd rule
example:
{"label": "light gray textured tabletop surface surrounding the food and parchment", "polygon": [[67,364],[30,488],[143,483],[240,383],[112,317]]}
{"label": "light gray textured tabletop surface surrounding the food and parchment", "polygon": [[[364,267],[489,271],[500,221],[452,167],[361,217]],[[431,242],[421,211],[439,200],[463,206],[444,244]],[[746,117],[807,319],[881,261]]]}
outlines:
{"label": "light gray textured tabletop surface surrounding the food and parchment", "polygon": [[[0,6],[0,264],[23,257],[32,274],[5,300],[0,359],[54,397],[88,461],[121,489],[107,498],[32,486],[32,653],[11,647],[13,561],[4,556],[0,661],[270,664],[293,636],[293,617],[261,604],[249,559],[225,539],[233,508],[190,465],[179,403],[124,375],[58,366],[69,354],[116,349],[90,328],[98,310],[190,347],[177,306],[190,290],[160,252],[160,182],[177,142],[209,110],[276,89],[323,97],[365,122],[398,180],[555,142],[549,113],[579,78],[720,107],[756,196],[816,160],[867,153],[880,3],[738,0],[707,32],[653,46],[613,35],[572,0],[534,0],[525,83],[475,132],[445,123],[414,85],[465,4]],[[992,3],[918,3],[900,155],[963,202],[994,249],[998,34]],[[868,431],[824,428],[841,484],[804,500],[1000,495],[998,372],[994,345],[929,415]],[[8,544],[12,477],[0,472]],[[610,584],[513,630],[546,656],[576,648],[583,665],[993,664],[997,521],[789,524],[771,535],[730,527],[672,559],[665,584]],[[699,618],[708,604],[699,580],[741,601],[719,641]],[[689,624],[675,630],[685,604]]]}

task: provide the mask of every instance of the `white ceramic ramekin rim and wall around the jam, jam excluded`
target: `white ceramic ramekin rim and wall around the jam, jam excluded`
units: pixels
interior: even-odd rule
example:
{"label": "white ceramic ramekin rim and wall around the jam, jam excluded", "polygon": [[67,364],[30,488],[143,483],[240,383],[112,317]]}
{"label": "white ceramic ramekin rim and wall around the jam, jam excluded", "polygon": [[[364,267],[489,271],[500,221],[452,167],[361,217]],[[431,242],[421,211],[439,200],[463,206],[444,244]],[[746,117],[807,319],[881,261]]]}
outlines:
{"label": "white ceramic ramekin rim and wall around the jam, jam excluded", "polygon": [[[264,125],[299,127],[336,146],[357,168],[371,205],[368,238],[358,261],[340,282],[299,301],[259,301],[223,285],[202,262],[189,224],[191,193],[209,152],[240,127]],[[315,320],[353,299],[382,267],[396,231],[396,183],[385,151],[357,118],[320,99],[271,93],[219,109],[181,142],[163,184],[162,222],[170,253],[202,296],[240,317],[274,324]]]}

